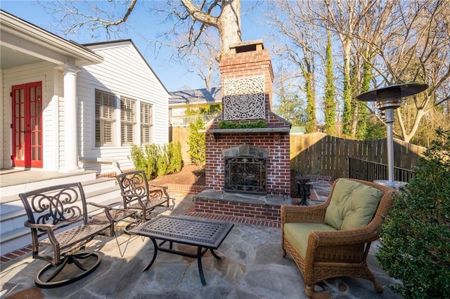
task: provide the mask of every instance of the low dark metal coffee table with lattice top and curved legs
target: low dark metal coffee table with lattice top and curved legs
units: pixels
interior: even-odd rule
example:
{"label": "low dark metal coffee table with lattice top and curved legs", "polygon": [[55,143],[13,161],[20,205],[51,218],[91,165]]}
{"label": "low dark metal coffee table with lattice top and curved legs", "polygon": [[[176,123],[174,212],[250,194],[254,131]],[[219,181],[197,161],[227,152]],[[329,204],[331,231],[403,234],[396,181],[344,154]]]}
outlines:
{"label": "low dark metal coffee table with lattice top and curved legs", "polygon": [[[128,232],[129,234],[149,237],[153,242],[155,248],[153,258],[143,271],[150,269],[155,262],[158,251],[183,255],[188,258],[197,258],[200,280],[203,286],[205,286],[206,281],[205,275],[203,274],[202,256],[209,250],[214,258],[221,260],[221,257],[214,252],[214,249],[219,248],[233,226],[231,222],[219,220],[189,216],[158,215]],[[161,240],[162,242],[158,244],[156,240]],[[169,242],[169,248],[162,247],[166,242]],[[172,243],[197,246],[197,254],[174,250],[172,249]]]}

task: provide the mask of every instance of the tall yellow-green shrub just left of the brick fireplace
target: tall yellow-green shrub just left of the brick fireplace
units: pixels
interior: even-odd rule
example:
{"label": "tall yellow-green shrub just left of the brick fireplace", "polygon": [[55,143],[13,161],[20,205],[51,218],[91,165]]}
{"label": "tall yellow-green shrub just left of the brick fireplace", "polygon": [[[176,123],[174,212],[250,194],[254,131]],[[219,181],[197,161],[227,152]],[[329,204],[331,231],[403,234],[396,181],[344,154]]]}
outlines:
{"label": "tall yellow-green shrub just left of the brick fireplace", "polygon": [[203,129],[203,126],[205,124],[200,117],[189,125],[188,153],[191,156],[191,162],[200,167],[206,164],[205,133],[199,132],[199,130]]}

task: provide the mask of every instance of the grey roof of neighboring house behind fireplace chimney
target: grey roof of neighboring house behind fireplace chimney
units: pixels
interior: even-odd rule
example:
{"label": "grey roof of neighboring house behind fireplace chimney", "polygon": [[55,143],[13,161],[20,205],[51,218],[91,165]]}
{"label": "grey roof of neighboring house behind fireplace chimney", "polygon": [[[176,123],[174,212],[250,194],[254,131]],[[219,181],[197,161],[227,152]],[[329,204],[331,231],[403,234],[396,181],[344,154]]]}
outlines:
{"label": "grey roof of neighboring house behind fireplace chimney", "polygon": [[213,87],[211,91],[206,88],[191,89],[188,91],[173,91],[169,98],[169,107],[199,104],[221,104],[222,89]]}

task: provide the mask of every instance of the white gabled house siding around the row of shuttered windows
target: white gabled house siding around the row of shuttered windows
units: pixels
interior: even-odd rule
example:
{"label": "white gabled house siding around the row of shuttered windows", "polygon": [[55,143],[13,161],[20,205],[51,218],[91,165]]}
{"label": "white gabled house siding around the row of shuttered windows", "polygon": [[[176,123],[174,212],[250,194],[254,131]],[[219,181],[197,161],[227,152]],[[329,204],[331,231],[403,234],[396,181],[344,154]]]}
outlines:
{"label": "white gabled house siding around the row of shuttered windows", "polygon": [[[160,145],[169,140],[169,94],[130,41],[99,44],[88,48],[101,55],[104,60],[101,64],[83,67],[78,74],[79,155],[87,158],[115,159],[122,170],[134,168],[129,159],[131,147],[120,145],[120,121],[115,122],[115,146],[95,147],[95,90],[131,98],[138,101],[138,106],[139,101],[153,105],[153,142]],[[136,121],[139,123],[139,108],[136,110]],[[117,113],[120,113],[119,109]],[[120,115],[117,115],[116,119],[120,119]],[[139,140],[139,130],[135,132]],[[83,167],[100,173],[114,171],[109,164],[86,163]]]}

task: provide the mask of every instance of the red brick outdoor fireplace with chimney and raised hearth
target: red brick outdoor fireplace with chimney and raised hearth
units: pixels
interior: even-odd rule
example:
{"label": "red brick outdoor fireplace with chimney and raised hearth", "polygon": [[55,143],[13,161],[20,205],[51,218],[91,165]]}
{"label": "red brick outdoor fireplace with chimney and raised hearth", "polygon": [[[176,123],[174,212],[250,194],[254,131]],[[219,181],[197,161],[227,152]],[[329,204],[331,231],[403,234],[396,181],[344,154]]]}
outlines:
{"label": "red brick outdoor fireplace with chimney and raised hearth", "polygon": [[[271,112],[274,72],[262,40],[230,49],[219,65],[223,108],[205,130],[205,191],[194,197],[195,209],[278,220],[280,205],[290,204],[290,123]],[[220,129],[219,121],[266,127]]]}

